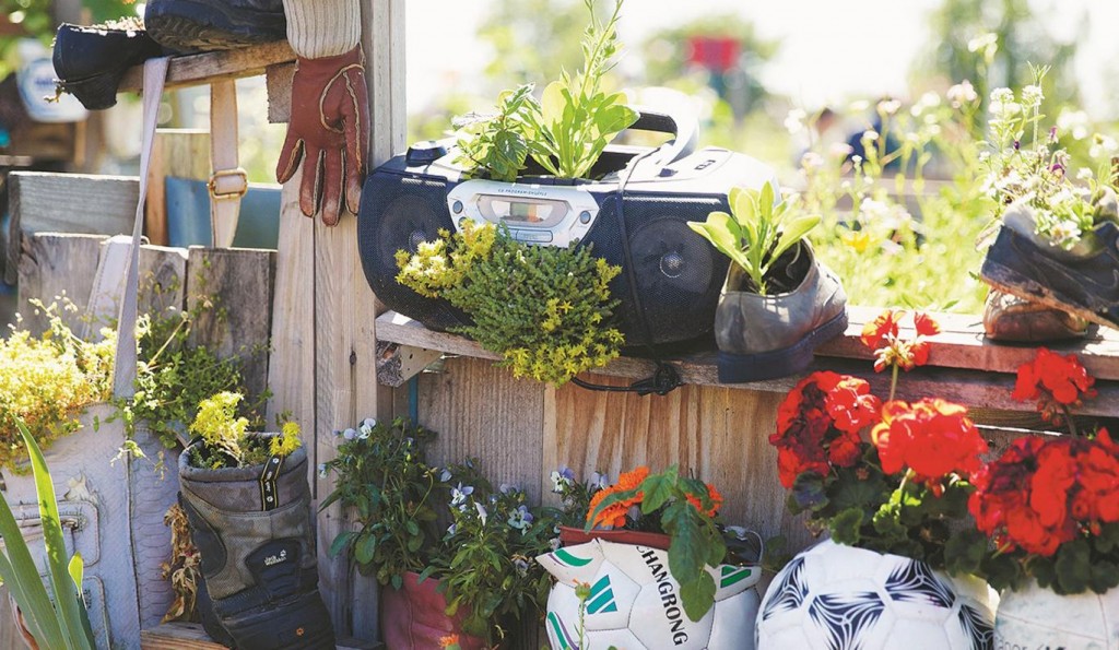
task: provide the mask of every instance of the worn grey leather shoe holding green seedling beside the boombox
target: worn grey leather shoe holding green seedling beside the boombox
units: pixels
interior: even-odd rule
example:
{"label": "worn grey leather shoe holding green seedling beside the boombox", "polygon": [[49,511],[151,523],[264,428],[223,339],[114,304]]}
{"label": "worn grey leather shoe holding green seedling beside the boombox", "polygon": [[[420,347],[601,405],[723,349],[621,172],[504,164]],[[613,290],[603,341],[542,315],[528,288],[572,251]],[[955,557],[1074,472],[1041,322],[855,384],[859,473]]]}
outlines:
{"label": "worn grey leather shoe holding green seedling beside the boombox", "polygon": [[808,367],[817,347],[847,329],[847,294],[808,242],[782,255],[782,263],[783,271],[771,281],[772,295],[730,289],[742,286],[745,275],[731,265],[715,311],[720,381],[796,375]]}

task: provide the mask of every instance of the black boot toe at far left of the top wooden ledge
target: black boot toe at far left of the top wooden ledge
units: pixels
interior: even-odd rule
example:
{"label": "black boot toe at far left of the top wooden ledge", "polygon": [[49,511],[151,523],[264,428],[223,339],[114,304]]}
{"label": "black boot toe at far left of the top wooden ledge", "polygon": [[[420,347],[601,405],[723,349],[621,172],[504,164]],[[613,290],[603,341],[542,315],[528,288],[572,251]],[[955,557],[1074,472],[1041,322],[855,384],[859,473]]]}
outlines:
{"label": "black boot toe at far left of the top wooden ledge", "polygon": [[135,19],[83,27],[64,22],[55,34],[51,62],[59,93],[77,97],[90,111],[116,104],[116,87],[132,66],[163,49]]}

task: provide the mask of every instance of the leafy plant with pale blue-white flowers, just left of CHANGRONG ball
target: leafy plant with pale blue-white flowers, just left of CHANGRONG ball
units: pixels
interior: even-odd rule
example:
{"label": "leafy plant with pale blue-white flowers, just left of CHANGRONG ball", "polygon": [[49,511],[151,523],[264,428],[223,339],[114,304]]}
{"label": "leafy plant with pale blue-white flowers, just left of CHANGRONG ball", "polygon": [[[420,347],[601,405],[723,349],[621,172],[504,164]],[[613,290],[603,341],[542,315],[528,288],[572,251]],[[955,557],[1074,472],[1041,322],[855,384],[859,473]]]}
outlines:
{"label": "leafy plant with pale blue-white flowers, just left of CHANGRONG ball", "polygon": [[560,512],[529,507],[514,486],[495,490],[474,459],[449,467],[448,473],[455,488],[445,552],[433,557],[421,580],[438,577],[446,613],[462,609],[463,631],[492,646],[513,621],[543,616],[552,578],[534,558],[553,550]]}

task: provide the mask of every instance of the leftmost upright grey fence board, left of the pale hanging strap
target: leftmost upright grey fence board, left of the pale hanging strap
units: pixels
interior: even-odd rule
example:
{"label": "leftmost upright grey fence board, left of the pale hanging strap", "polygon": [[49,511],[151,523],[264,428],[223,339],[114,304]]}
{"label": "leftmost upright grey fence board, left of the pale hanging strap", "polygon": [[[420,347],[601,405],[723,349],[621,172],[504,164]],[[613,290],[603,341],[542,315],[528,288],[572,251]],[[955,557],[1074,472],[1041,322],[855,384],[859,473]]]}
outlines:
{"label": "leftmost upright grey fence board, left of the pale hanging strap", "polygon": [[[21,237],[22,255],[19,260],[18,311],[23,317],[23,329],[39,335],[47,328],[47,319],[36,313],[30,301],[37,299],[49,305],[56,298],[65,296],[77,308],[63,311],[63,322],[74,331],[82,329],[97,271],[97,256],[103,235],[73,235],[67,233],[38,233]],[[60,307],[60,305],[59,305]]]}

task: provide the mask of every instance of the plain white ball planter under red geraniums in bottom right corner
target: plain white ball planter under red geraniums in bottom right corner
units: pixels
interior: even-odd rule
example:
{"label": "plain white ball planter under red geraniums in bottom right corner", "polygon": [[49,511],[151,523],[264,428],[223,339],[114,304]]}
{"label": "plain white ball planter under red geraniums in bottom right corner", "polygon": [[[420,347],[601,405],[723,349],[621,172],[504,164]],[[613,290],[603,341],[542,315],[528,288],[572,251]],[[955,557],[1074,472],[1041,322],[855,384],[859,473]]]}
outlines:
{"label": "plain white ball planter under red geraniums in bottom right corner", "polygon": [[1060,595],[1032,582],[1006,591],[995,616],[995,647],[1119,650],[1119,590]]}

